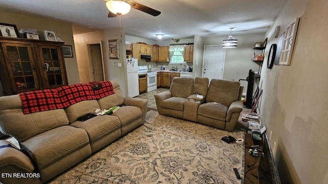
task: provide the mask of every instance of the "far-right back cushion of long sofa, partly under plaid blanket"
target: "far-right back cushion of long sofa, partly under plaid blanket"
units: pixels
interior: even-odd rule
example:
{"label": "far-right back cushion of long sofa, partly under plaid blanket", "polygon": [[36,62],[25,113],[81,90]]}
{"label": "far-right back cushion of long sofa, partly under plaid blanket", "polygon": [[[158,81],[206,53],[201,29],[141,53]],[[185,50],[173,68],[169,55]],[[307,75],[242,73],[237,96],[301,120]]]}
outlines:
{"label": "far-right back cushion of long sofa, partly under plaid blanket", "polygon": [[115,105],[123,104],[124,94],[117,81],[112,81],[115,94],[98,99],[101,109],[109,109]]}

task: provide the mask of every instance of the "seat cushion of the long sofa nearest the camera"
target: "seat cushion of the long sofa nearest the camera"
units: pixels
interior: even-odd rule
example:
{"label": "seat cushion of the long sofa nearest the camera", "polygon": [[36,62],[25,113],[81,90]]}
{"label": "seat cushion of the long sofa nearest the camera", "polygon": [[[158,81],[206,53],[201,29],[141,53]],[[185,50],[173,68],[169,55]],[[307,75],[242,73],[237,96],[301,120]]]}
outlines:
{"label": "seat cushion of the long sofa nearest the camera", "polygon": [[42,169],[87,144],[89,137],[84,129],[66,125],[35,135],[20,146]]}

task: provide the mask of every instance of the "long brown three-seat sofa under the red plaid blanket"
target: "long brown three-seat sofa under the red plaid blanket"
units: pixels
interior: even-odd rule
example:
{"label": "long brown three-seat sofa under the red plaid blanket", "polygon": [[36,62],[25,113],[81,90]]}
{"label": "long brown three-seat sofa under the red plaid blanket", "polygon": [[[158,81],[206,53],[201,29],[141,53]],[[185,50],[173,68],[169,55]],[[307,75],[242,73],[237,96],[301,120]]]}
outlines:
{"label": "long brown three-seat sofa under the red plaid blanket", "polygon": [[[124,98],[117,81],[115,94],[80,101],[66,108],[24,114],[18,95],[0,97],[0,130],[15,137],[24,153],[0,149],[1,173],[39,173],[40,178],[0,177],[4,183],[40,183],[64,172],[95,151],[145,123],[147,100]],[[87,121],[78,117],[124,104],[111,116]],[[6,142],[0,142],[0,146]]]}

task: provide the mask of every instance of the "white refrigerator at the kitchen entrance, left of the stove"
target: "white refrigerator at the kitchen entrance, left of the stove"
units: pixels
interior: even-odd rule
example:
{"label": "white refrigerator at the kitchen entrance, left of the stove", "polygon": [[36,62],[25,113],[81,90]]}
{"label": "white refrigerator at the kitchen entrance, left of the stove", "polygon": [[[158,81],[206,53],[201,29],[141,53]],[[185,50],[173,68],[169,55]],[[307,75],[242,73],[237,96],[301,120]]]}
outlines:
{"label": "white refrigerator at the kitchen entrance, left of the stove", "polygon": [[127,59],[128,96],[139,95],[138,59]]}

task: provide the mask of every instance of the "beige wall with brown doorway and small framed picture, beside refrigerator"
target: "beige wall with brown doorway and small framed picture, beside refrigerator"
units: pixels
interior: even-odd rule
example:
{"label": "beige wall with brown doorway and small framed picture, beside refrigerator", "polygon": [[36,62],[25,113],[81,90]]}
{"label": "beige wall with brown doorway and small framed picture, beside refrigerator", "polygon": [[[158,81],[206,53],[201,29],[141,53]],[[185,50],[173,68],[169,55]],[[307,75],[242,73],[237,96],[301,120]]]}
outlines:
{"label": "beige wall with brown doorway and small framed picture, beside refrigerator", "polygon": [[[124,29],[122,29],[124,35]],[[101,50],[103,52],[103,62],[105,71],[105,80],[117,80],[121,86],[123,94],[127,92],[127,77],[126,77],[126,51],[125,51],[125,37],[121,39],[119,28],[95,31],[90,33],[83,33],[74,35],[74,42],[76,48],[76,58],[78,71],[80,73],[81,83],[86,83],[91,80],[90,61],[88,54],[88,43],[101,43]],[[108,40],[118,39],[119,59],[109,59]],[[114,62],[116,66],[114,66]],[[118,64],[121,63],[121,67]]]}

